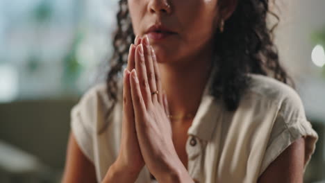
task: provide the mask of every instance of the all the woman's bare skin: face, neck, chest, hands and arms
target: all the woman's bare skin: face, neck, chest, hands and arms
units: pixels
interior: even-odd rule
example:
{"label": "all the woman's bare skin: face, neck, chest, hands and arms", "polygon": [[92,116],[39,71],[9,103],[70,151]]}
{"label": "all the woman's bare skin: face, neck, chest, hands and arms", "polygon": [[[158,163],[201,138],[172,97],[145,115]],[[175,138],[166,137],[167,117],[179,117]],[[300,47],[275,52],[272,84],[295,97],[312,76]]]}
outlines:
{"label": "all the woman's bare skin: face, neck, chest, hands and arms", "polygon": [[[169,9],[163,0],[128,1],[138,37],[124,71],[121,149],[103,182],[134,182],[144,164],[158,182],[192,182],[185,152],[192,119],[169,121],[167,114],[184,116],[199,107],[211,64],[213,33],[219,19],[227,19],[235,8],[235,0],[222,2],[217,6],[217,0],[170,0]],[[147,40],[145,32],[155,22],[177,34]],[[165,94],[151,95],[156,90]],[[94,166],[77,147],[71,135],[63,182],[94,178],[94,170],[88,169]],[[301,138],[272,162],[258,182],[302,182],[303,158]]]}

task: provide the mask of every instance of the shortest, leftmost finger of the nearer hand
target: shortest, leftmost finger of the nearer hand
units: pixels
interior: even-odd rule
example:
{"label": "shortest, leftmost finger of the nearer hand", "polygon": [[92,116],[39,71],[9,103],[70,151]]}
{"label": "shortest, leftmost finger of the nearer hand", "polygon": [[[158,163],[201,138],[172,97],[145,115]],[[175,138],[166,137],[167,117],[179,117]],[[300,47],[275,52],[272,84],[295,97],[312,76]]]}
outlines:
{"label": "shortest, leftmost finger of the nearer hand", "polygon": [[144,112],[146,111],[146,105],[142,98],[142,93],[139,85],[140,83],[135,69],[131,71],[130,83],[131,83],[131,96],[132,96],[133,110],[136,119],[139,117],[139,115],[144,115]]}

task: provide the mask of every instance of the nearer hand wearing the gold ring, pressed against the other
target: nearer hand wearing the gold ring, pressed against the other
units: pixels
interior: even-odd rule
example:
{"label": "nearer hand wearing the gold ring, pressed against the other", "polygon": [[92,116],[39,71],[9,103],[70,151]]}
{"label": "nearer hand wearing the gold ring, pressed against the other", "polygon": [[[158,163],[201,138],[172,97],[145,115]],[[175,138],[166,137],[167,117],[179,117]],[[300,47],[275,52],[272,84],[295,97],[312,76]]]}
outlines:
{"label": "nearer hand wearing the gold ring, pressed against the other", "polygon": [[[162,91],[160,74],[149,40],[147,37],[143,40],[143,44],[138,45],[135,50],[136,71],[133,69],[130,76],[135,129],[142,157],[149,171],[159,182],[171,182],[178,178],[178,171],[186,171],[172,141],[172,127],[166,115],[168,110],[165,97],[160,100],[161,95],[151,95],[151,91]],[[145,50],[147,56],[144,55]],[[153,77],[148,77],[147,73],[153,73]],[[189,175],[184,175],[183,179],[191,181]]]}

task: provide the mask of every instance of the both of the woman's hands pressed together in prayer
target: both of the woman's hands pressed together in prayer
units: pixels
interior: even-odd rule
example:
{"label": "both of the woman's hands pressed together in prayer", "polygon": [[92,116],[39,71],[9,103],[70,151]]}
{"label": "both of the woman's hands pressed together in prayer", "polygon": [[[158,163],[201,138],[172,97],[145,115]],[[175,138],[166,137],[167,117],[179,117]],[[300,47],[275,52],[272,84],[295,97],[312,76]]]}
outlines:
{"label": "both of the woman's hands pressed together in prayer", "polygon": [[146,164],[158,182],[192,182],[174,148],[167,97],[147,35],[131,44],[123,82],[122,139],[105,180],[134,182]]}

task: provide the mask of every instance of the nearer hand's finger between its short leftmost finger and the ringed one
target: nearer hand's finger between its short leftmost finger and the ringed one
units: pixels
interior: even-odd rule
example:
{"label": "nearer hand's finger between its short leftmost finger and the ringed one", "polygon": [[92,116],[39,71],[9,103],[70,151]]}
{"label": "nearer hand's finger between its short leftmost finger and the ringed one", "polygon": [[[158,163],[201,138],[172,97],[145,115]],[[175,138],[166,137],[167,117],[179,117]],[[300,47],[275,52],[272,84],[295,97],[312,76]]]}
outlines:
{"label": "nearer hand's finger between its short leftmost finger and the ringed one", "polygon": [[146,104],[146,107],[152,104],[151,92],[149,88],[148,78],[147,78],[147,68],[145,64],[144,52],[142,44],[139,44],[135,49],[135,70],[138,74],[138,79],[140,83],[141,94]]}

